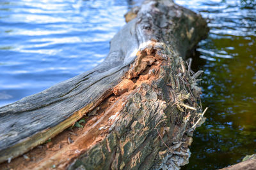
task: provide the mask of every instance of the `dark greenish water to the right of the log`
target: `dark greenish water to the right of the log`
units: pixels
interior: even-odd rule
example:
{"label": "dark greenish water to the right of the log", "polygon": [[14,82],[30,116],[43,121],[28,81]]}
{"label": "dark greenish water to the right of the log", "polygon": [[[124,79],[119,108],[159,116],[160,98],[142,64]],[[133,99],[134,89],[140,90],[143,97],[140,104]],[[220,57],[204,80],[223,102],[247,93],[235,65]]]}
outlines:
{"label": "dark greenish water to the right of the log", "polygon": [[[194,70],[205,71],[207,121],[196,129],[184,169],[217,169],[256,153],[256,5],[242,1],[179,1],[211,22]],[[197,57],[198,57],[197,56]]]}

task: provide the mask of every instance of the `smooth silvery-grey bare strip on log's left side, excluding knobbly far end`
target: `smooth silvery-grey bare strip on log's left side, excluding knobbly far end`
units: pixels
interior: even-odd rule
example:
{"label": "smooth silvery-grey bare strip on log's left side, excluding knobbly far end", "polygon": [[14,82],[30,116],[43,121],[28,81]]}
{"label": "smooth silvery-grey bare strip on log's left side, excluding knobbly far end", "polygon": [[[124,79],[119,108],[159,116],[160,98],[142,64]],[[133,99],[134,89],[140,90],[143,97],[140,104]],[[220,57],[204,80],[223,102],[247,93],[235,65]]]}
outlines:
{"label": "smooth silvery-grey bare strip on log's left side, excluding knobbly far end", "polygon": [[108,57],[91,71],[1,107],[0,162],[44,143],[108,97],[102,94],[120,81],[138,51],[137,35],[125,33],[134,29],[131,22],[118,32]]}

